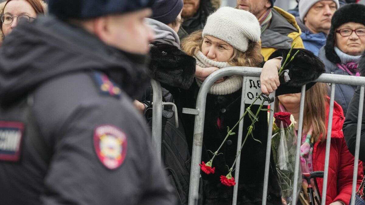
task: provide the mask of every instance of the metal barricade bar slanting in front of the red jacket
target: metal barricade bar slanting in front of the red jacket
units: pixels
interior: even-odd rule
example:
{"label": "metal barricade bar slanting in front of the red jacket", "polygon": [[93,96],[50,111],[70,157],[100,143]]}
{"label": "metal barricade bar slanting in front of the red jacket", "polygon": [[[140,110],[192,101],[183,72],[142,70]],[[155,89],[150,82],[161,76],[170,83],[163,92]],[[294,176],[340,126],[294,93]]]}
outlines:
{"label": "metal barricade bar slanting in front of the red jacket", "polygon": [[332,120],[333,120],[333,104],[335,101],[335,88],[336,88],[335,86],[336,86],[335,83],[331,84],[330,113],[328,114],[328,128],[327,128],[327,141],[326,141],[326,158],[324,159],[322,205],[326,205],[328,165],[330,163],[330,146],[331,146]]}

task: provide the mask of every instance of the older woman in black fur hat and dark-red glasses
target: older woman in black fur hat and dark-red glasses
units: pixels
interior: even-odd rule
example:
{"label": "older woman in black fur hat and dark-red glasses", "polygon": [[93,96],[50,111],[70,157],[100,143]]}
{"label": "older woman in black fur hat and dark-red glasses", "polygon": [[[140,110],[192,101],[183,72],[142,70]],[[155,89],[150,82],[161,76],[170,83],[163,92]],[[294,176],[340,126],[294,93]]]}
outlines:
{"label": "older woman in black fur hat and dark-red glasses", "polygon": [[[318,57],[327,73],[360,76],[358,62],[365,51],[365,5],[347,4],[333,15],[326,45]],[[356,86],[336,85],[335,101],[346,115]]]}

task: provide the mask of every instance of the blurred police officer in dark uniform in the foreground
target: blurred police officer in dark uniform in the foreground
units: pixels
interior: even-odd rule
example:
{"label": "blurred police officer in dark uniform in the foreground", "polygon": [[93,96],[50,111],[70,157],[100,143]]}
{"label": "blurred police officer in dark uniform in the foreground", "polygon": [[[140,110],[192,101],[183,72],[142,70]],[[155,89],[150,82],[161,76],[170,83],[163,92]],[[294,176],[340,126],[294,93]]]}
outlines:
{"label": "blurred police officer in dark uniform in the foreground", "polygon": [[173,204],[131,98],[149,0],[50,0],[0,49],[0,204]]}

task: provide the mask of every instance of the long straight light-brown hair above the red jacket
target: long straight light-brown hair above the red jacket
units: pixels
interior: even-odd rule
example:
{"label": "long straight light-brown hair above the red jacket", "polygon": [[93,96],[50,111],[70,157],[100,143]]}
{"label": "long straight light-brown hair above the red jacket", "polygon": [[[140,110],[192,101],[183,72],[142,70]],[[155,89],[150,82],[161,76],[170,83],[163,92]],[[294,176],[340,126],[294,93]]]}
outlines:
{"label": "long straight light-brown hair above the red jacket", "polygon": [[[326,107],[329,104],[327,93],[327,84],[318,82],[306,91],[304,99],[303,133],[307,133],[312,126],[315,142],[326,140]],[[276,98],[275,112],[279,111],[279,100]]]}

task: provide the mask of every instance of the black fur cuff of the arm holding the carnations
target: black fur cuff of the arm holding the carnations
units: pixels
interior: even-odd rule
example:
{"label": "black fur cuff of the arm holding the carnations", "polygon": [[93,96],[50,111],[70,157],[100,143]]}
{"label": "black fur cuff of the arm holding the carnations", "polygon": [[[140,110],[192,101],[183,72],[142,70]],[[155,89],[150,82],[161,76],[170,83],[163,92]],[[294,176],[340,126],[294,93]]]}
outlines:
{"label": "black fur cuff of the arm holding the carnations", "polygon": [[[290,81],[285,82],[284,77],[280,77],[280,86],[276,91],[276,96],[289,94],[289,93],[300,93],[301,86],[307,85],[306,90],[310,89],[316,80],[326,70],[323,62],[316,57],[311,51],[306,49],[293,49],[291,57],[299,50],[299,53],[295,56],[293,61],[285,69],[289,70]],[[288,49],[278,49],[270,55],[269,59],[276,57],[283,57],[282,64],[288,55]],[[290,60],[290,59],[289,59]]]}

